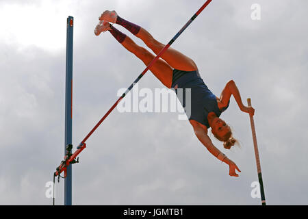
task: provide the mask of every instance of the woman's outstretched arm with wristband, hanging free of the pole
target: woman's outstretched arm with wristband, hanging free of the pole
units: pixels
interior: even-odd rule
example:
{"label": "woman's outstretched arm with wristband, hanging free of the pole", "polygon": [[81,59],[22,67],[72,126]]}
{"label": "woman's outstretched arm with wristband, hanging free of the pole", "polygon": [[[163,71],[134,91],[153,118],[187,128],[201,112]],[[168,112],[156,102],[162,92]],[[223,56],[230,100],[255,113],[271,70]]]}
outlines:
{"label": "woman's outstretched arm with wristband, hanging free of the pole", "polygon": [[[198,125],[194,125],[193,128],[194,128],[194,133],[196,134],[196,137],[207,148],[209,153],[211,153],[215,157],[218,157],[218,155],[221,152],[211,142],[211,139],[209,138],[209,136],[207,136],[205,129],[203,129],[203,127],[199,127]],[[231,161],[231,159],[226,157],[226,158],[223,159],[222,162],[229,165],[229,175],[231,177],[238,177],[238,174],[235,172],[235,170],[240,171],[240,169],[238,168],[238,166],[236,166],[236,164],[233,161]]]}

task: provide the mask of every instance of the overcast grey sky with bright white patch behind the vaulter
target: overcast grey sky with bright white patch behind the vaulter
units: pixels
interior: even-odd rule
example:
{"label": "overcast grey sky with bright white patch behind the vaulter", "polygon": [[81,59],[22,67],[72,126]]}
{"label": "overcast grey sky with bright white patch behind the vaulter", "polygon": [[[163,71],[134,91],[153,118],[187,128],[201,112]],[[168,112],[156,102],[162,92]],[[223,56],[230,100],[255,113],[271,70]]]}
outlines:
{"label": "overcast grey sky with bright white patch behind the vaulter", "polygon": [[[167,43],[205,1],[0,1],[0,204],[51,205],[45,184],[64,156],[66,18],[73,16],[73,144],[88,134],[144,64],[110,33],[94,35],[104,10]],[[251,5],[261,6],[261,20]],[[307,205],[308,1],[213,0],[172,44],[191,57],[217,96],[233,79],[251,98],[268,205]],[[136,43],[146,47],[123,27]],[[151,72],[141,88],[163,88]],[[75,205],[260,205],[248,114],[231,97],[221,116],[241,147],[229,167],[177,113],[114,110],[73,166]],[[210,132],[210,131],[209,131]],[[64,180],[56,183],[64,203]]]}

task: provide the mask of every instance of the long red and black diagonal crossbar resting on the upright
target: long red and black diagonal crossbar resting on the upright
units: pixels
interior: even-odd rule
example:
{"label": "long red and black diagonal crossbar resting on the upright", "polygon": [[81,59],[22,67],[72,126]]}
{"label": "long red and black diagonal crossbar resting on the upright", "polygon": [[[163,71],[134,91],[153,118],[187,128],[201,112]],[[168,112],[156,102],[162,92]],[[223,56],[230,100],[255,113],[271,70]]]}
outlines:
{"label": "long red and black diagonal crossbar resting on the upright", "polygon": [[159,59],[159,57],[162,56],[162,54],[170,47],[170,45],[173,42],[175,42],[175,40],[177,40],[177,38],[183,33],[183,31],[190,25],[190,23],[192,23],[192,21],[194,21],[196,16],[198,16],[207,7],[207,5],[209,5],[209,3],[211,3],[211,0],[207,0],[201,6],[201,8],[196,12],[196,14],[194,14],[194,16],[192,16],[192,18],[190,18],[188,23],[186,23],[182,27],[182,29],[180,29],[180,31],[172,38],[172,40],[170,40],[170,42],[168,42],[168,44],[166,44],[166,46],[156,55],[156,57],[152,60],[152,62],[150,62],[150,64],[148,66],[146,66],[146,68],[142,71],[142,73],[138,76],[138,78],[135,81],[133,81],[133,83],[131,84],[131,86],[129,86],[129,88],[127,88],[125,93],[123,93],[122,96],[120,96],[120,98],[116,101],[116,103],[114,103],[114,105],[112,105],[112,107],[110,108],[110,110],[108,110],[108,112],[105,114],[105,116],[103,116],[103,118],[101,118],[101,120],[99,120],[99,123],[97,123],[97,125],[95,125],[94,128],[88,133],[86,138],[84,138],[84,140],[81,141],[79,146],[77,146],[77,151],[75,151],[75,153],[73,153],[73,155],[71,155],[70,158],[67,159],[66,162],[64,162],[64,164],[61,164],[59,166],[59,168],[57,168],[57,172],[55,172],[56,176],[60,175],[60,173],[62,171],[66,170],[66,167],[70,164],[70,162],[72,162],[75,159],[75,157],[77,157],[77,155],[82,150],[84,150],[86,148],[86,140],[88,140],[88,138],[90,138],[92,133],[99,127],[99,125],[101,125],[101,123],[103,123],[103,120],[105,120],[105,118],[107,118],[107,116],[112,112],[112,110],[114,110],[116,105],[118,105],[118,103],[125,97],[125,95],[133,88],[133,86],[142,78],[142,76],[151,68],[151,66],[153,66],[153,64]]}

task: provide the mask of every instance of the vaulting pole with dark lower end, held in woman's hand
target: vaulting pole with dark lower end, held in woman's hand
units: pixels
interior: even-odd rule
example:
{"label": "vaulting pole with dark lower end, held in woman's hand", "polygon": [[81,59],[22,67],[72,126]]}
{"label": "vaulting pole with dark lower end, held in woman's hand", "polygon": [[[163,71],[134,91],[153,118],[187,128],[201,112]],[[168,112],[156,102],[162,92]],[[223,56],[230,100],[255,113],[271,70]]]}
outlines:
{"label": "vaulting pole with dark lower end, held in woman's hand", "polygon": [[[247,99],[248,106],[251,107],[251,99]],[[258,150],[258,144],[257,144],[257,136],[255,134],[255,122],[253,120],[253,116],[249,115],[251,118],[251,131],[253,132],[253,146],[255,147],[255,161],[257,163],[257,172],[258,172],[258,179],[260,184],[260,192],[261,192],[261,203],[262,205],[266,205],[265,201],[265,194],[264,194],[264,186],[263,186],[263,180],[262,180],[262,174],[261,174],[261,165],[260,165],[260,159],[259,159],[259,150]]]}

